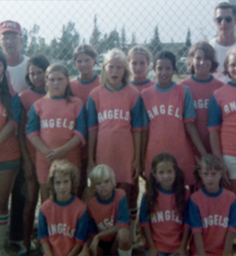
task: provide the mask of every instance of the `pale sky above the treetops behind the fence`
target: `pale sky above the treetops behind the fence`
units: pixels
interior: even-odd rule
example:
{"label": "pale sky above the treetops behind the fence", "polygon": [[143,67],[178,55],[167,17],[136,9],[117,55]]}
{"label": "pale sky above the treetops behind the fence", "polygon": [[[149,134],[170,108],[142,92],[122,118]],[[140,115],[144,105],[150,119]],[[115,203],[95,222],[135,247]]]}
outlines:
{"label": "pale sky above the treetops behind the fence", "polygon": [[158,26],[163,43],[184,42],[189,28],[192,43],[216,36],[213,23],[218,0],[77,0],[77,1],[0,1],[1,20],[16,20],[30,30],[40,26],[39,35],[49,41],[60,38],[68,21],[76,25],[81,39],[89,43],[97,15],[103,37],[124,26],[128,41],[135,32],[137,43],[149,42]]}

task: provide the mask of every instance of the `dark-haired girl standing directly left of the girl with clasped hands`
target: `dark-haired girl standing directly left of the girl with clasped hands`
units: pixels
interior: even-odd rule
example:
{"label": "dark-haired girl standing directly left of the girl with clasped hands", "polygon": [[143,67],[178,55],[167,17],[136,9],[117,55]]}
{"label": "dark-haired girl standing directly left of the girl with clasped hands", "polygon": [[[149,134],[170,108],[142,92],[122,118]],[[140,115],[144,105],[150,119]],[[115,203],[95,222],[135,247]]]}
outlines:
{"label": "dark-haired girl standing directly left of the girl with clasped hands", "polygon": [[[49,67],[49,61],[44,55],[33,55],[26,64],[26,83],[30,89],[20,93],[22,104],[20,115],[20,151],[23,157],[23,169],[26,177],[26,205],[24,208],[24,247],[20,248],[18,255],[29,252],[31,248],[32,225],[37,205],[39,185],[36,175],[36,149],[26,140],[27,114],[32,104],[45,96],[45,71]],[[33,248],[33,247],[32,247]]]}

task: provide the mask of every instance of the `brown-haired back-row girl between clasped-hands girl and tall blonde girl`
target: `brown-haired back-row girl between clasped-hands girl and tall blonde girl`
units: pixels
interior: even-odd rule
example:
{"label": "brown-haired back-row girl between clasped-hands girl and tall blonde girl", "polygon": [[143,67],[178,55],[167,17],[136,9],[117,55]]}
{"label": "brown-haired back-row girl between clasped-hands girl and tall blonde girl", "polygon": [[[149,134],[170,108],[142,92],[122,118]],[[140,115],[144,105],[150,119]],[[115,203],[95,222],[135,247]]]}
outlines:
{"label": "brown-haired back-row girl between clasped-hands girl and tall blonde girl", "polygon": [[[88,107],[89,93],[99,85],[99,76],[94,73],[97,59],[96,50],[88,44],[81,44],[73,54],[74,67],[78,70],[78,76],[70,81],[72,93],[83,101]],[[81,178],[78,187],[78,197],[82,197],[87,184],[88,147],[81,148]]]}

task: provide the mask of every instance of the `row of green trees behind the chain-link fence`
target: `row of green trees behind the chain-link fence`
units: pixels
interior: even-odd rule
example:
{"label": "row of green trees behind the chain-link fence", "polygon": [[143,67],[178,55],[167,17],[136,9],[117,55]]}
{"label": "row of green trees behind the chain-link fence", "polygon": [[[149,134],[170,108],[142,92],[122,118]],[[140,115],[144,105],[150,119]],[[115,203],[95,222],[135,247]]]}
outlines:
{"label": "row of green trees behind the chain-link fence", "polygon": [[[68,70],[76,75],[76,71],[72,67],[72,55],[73,50],[78,46],[80,41],[80,35],[76,30],[75,23],[69,21],[66,25],[62,26],[62,32],[60,37],[53,38],[49,43],[46,42],[45,38],[39,36],[40,26],[34,24],[30,31],[26,28],[22,30],[23,44],[21,46],[22,53],[24,55],[31,56],[37,52],[41,52],[49,58],[49,61],[61,61],[63,62]],[[83,38],[83,36],[81,37]],[[81,39],[83,44],[86,44],[85,38]],[[187,38],[183,43],[174,43],[171,39],[172,44],[162,43],[159,38],[158,26],[155,26],[153,31],[153,38],[150,40],[149,44],[147,41],[144,44],[151,50],[153,55],[162,49],[168,49],[176,54],[179,70],[181,73],[185,73],[184,62],[182,57],[187,56],[187,51],[191,47],[191,31],[187,30]],[[106,53],[107,50],[112,48],[120,48],[124,50],[125,53],[128,52],[130,48],[137,44],[135,32],[131,35],[130,42],[127,40],[125,26],[122,27],[119,34],[118,30],[114,28],[111,32],[102,34],[99,30],[97,24],[97,15],[94,17],[94,28],[89,38],[89,44],[93,45],[99,54]],[[170,49],[169,49],[170,48]],[[100,73],[100,70],[97,71]]]}

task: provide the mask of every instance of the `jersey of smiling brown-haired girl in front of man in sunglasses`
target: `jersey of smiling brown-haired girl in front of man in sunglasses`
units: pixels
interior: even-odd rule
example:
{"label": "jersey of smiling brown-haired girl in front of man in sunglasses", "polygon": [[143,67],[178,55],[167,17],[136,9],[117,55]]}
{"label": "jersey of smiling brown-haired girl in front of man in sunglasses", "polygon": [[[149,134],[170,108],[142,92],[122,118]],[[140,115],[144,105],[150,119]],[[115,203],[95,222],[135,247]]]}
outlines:
{"label": "jersey of smiling brown-haired girl in front of man in sunglasses", "polygon": [[[196,79],[193,75],[187,79],[181,81],[181,84],[187,85],[194,102],[194,108],[196,113],[195,125],[199,131],[199,136],[204,143],[204,148],[208,153],[211,153],[210,149],[210,137],[209,131],[207,129],[208,123],[208,108],[210,97],[213,92],[222,87],[223,83],[215,79],[210,75],[209,79],[199,80]],[[194,155],[199,155],[199,151],[192,143]]]}

